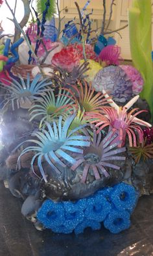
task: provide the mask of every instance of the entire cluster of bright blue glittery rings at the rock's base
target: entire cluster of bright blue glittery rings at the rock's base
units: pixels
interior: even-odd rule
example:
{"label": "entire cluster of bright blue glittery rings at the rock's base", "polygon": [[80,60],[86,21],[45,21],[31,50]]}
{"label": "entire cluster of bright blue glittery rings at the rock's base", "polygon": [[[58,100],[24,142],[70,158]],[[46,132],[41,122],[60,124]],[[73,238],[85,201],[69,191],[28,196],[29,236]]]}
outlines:
{"label": "entire cluster of bright blue glittery rings at the rock's base", "polygon": [[134,211],[139,194],[133,186],[125,183],[104,188],[93,196],[76,202],[54,203],[45,200],[37,218],[55,233],[83,233],[86,227],[100,229],[101,222],[112,233],[130,227],[130,214]]}

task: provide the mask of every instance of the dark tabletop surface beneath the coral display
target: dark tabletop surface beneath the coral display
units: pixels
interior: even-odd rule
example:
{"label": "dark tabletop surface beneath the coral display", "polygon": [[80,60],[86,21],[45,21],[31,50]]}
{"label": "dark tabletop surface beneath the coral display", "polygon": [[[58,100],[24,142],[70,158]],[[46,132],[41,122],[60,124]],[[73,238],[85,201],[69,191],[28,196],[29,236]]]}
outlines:
{"label": "dark tabletop surface beneath the coral display", "polygon": [[21,201],[0,184],[0,256],[153,255],[153,195],[139,199],[131,220],[117,235],[103,227],[78,236],[37,231],[21,215]]}

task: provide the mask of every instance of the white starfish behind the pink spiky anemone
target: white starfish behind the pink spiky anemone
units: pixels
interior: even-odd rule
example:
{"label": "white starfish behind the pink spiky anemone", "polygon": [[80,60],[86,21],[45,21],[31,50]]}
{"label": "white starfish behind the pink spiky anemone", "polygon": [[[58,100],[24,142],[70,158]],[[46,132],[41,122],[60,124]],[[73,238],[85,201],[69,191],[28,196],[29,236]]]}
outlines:
{"label": "white starfish behind the pink spiky anemone", "polygon": [[[104,97],[110,97],[108,94],[106,94],[105,90],[102,90],[102,93],[104,94]],[[130,109],[130,107],[132,107],[134,105],[134,103],[137,101],[137,99],[139,99],[139,95],[133,97],[133,99],[130,99],[130,101],[128,101],[128,103],[126,103],[126,105],[124,105],[124,107],[128,110]],[[111,102],[108,102],[110,104],[111,107],[113,107],[114,109],[117,110],[117,113],[119,113],[119,106],[111,99]],[[134,118],[135,123],[138,123],[139,125],[144,125],[144,126],[148,126],[148,127],[152,127],[152,125],[150,125],[150,123],[147,123],[139,118]]]}

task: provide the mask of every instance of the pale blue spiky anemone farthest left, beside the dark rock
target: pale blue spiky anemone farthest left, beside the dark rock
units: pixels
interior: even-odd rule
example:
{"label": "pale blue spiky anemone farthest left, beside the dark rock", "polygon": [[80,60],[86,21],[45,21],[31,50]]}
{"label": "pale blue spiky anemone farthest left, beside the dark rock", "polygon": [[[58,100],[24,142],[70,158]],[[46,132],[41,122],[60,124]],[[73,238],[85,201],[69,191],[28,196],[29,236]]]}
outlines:
{"label": "pale blue spiky anemone farthest left, beside the dark rock", "polygon": [[38,99],[41,94],[44,94],[47,90],[47,86],[51,85],[52,82],[47,82],[47,78],[40,81],[41,75],[38,74],[34,77],[32,83],[30,83],[30,75],[27,74],[27,82],[25,83],[23,77],[18,75],[20,83],[12,78],[10,86],[5,86],[7,91],[6,94],[6,104],[11,101],[12,109],[14,110],[14,101],[16,101],[17,108],[21,107],[23,104],[31,105],[35,99]]}

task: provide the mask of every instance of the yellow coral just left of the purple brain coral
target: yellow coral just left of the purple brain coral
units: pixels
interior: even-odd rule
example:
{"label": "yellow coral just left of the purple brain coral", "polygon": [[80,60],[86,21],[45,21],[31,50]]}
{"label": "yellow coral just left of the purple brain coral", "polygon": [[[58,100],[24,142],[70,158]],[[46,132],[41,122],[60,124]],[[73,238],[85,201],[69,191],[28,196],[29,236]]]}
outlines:
{"label": "yellow coral just left of the purple brain coral", "polygon": [[[87,60],[88,61],[88,67],[89,70],[84,73],[86,75],[86,81],[90,82],[93,81],[95,78],[95,75],[99,72],[99,70],[102,70],[102,66],[100,66],[99,62],[95,62],[95,60]],[[81,60],[80,63],[84,63],[84,60]]]}

